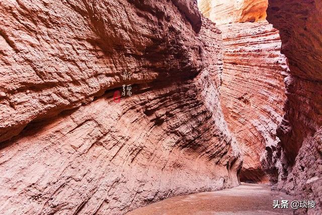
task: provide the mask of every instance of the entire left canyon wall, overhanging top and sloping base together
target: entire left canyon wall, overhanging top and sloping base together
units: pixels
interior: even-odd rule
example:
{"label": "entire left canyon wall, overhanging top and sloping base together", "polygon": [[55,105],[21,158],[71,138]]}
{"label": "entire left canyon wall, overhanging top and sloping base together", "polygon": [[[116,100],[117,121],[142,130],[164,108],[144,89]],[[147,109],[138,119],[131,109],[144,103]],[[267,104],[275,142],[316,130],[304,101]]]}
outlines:
{"label": "entire left canyon wall, overhanging top and sloping base together", "polygon": [[196,2],[21,0],[0,12],[1,214],[123,214],[238,185],[221,32]]}

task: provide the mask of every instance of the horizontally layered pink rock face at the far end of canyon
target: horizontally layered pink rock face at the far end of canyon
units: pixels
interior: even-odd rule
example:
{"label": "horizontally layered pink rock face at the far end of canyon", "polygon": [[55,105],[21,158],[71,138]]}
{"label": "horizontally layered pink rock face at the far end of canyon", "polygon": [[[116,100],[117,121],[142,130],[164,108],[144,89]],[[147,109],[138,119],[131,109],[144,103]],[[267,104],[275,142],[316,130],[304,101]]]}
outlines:
{"label": "horizontally layered pink rock face at the far end of canyon", "polygon": [[244,155],[240,180],[277,181],[267,154],[279,142],[276,128],[286,100],[286,57],[279,32],[267,21],[218,26],[223,32],[224,64],[220,100],[229,130]]}

